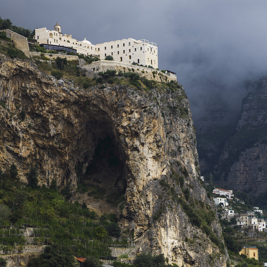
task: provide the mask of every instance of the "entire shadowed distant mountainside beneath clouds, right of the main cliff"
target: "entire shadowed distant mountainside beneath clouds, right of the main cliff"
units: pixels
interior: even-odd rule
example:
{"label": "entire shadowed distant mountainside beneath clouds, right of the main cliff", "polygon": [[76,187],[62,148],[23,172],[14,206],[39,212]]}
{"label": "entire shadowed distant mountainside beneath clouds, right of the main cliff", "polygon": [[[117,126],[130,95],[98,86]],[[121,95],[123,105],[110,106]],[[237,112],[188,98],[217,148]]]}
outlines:
{"label": "entire shadowed distant mountainside beneath clouds, right of the main cliff", "polygon": [[[248,83],[241,115],[235,124],[226,112],[212,112],[197,125],[201,171],[211,171],[215,183],[251,195],[267,189],[267,77]],[[221,107],[221,110],[223,108]]]}

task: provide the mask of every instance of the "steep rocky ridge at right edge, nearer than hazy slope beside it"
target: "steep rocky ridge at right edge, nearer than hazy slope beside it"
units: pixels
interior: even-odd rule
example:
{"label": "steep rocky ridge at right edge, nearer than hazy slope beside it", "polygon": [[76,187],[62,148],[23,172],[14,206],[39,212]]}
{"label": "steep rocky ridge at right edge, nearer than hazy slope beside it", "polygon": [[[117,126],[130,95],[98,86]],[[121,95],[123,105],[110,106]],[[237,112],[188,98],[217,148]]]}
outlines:
{"label": "steep rocky ridge at right edge, nearer than hazy slope beside it", "polygon": [[236,133],[225,143],[215,173],[221,184],[251,195],[267,190],[267,78],[250,83]]}

